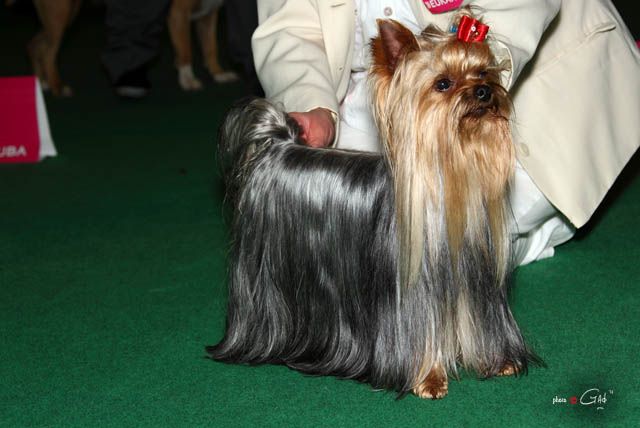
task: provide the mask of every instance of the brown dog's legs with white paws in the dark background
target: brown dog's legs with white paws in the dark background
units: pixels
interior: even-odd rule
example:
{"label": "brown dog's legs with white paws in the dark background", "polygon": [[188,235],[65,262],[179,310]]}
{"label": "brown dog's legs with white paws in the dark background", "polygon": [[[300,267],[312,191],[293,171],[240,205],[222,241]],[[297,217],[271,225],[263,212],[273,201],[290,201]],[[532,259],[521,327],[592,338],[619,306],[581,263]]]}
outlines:
{"label": "brown dog's legs with white paws in the dark background", "polygon": [[195,21],[205,67],[217,83],[238,80],[238,75],[225,71],[218,62],[217,24],[223,0],[172,0],[168,26],[176,53],[178,83],[185,91],[202,88],[195,77],[191,56],[191,21]]}

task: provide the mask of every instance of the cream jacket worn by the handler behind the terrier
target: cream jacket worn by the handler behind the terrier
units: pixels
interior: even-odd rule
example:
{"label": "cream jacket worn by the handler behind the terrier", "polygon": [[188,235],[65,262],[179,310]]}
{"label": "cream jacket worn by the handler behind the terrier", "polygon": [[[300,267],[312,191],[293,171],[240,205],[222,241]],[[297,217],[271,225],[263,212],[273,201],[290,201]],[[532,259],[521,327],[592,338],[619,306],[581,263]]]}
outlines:
{"label": "cream jacket worn by the handler behind the terrier", "polygon": [[[421,25],[448,27],[450,13],[411,2]],[[481,8],[494,53],[511,66],[504,83],[521,164],[551,203],[584,225],[640,144],[640,52],[629,31],[608,0],[464,4]],[[353,0],[258,0],[258,15],[252,43],[267,97],[288,111],[339,111]]]}

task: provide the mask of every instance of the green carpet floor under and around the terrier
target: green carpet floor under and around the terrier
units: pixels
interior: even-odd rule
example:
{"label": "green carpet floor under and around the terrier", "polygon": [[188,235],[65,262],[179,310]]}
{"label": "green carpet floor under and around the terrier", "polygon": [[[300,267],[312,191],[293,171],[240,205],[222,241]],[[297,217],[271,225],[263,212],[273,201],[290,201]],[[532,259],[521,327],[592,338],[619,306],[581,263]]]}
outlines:
{"label": "green carpet floor under and around the terrier", "polygon": [[[547,368],[465,376],[432,402],[213,362],[229,246],[215,135],[242,88],[182,93],[165,38],[152,95],[118,100],[100,19],[85,7],[60,55],[76,96],[46,97],[60,155],[0,166],[0,426],[640,424],[637,157],[588,230],[517,271],[513,310]],[[35,28],[0,12],[0,76],[29,73]],[[591,388],[603,409],[553,403]]]}

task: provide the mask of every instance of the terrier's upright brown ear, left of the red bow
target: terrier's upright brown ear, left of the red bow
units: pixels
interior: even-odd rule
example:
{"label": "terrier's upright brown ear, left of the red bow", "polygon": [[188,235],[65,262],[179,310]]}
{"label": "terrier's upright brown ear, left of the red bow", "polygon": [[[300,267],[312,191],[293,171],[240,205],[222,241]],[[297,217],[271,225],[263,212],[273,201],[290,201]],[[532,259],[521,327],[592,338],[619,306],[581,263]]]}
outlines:
{"label": "terrier's upright brown ear, left of the red bow", "polygon": [[392,19],[378,19],[378,37],[371,40],[371,57],[376,72],[393,75],[402,57],[420,50],[416,36]]}

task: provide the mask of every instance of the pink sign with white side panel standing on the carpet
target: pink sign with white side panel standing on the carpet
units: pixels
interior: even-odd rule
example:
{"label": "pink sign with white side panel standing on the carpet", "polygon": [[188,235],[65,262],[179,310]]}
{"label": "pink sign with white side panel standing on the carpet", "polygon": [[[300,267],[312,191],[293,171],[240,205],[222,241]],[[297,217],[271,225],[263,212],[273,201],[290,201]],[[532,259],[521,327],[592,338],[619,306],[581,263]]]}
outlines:
{"label": "pink sign with white side panel standing on the carpet", "polygon": [[0,163],[38,162],[55,155],[35,76],[0,78]]}

